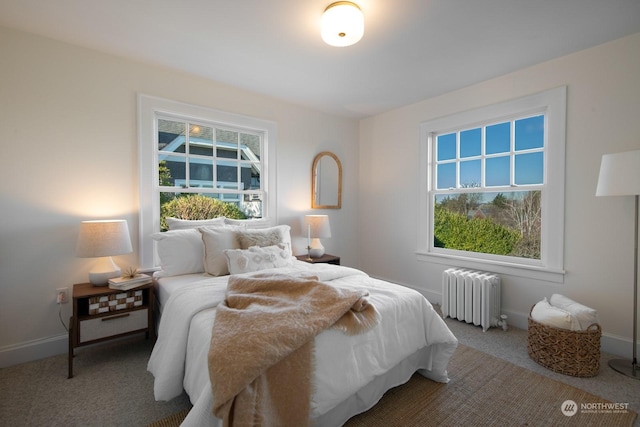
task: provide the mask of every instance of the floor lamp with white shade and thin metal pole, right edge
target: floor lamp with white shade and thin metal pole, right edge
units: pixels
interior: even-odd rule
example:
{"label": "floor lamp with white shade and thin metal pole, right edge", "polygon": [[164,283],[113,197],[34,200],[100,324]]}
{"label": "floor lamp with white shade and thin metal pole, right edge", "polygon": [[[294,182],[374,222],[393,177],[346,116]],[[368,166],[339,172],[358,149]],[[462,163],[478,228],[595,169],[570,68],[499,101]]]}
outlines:
{"label": "floor lamp with white shade and thin metal pole, right edge", "polygon": [[634,196],[635,228],[633,233],[633,358],[612,359],[609,366],[640,380],[638,350],[638,201],[640,195],[640,150],[602,156],[596,196]]}

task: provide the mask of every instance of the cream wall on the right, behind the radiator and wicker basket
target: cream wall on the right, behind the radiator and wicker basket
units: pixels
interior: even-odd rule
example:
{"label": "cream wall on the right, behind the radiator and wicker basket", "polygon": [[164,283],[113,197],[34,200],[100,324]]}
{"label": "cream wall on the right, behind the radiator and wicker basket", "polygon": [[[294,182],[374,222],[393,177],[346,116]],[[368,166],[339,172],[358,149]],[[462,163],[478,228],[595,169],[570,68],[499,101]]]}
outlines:
{"label": "cream wall on the right, behind the radiator and wicker basket", "polygon": [[503,277],[503,307],[526,327],[533,304],[562,293],[596,308],[605,350],[630,357],[633,198],[596,198],[595,189],[603,154],[640,148],[638,52],[640,34],[362,120],[361,268],[440,302],[447,266],[414,254],[419,124],[567,85],[565,281]]}

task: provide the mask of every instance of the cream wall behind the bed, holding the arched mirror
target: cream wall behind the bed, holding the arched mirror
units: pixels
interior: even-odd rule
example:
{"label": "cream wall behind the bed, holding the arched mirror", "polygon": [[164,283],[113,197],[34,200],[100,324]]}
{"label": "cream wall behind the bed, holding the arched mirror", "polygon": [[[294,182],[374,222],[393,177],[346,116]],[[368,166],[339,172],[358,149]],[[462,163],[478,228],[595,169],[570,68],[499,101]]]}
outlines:
{"label": "cream wall behind the bed, holding the arched mirror", "polygon": [[116,262],[137,264],[138,93],[277,122],[278,222],[294,236],[311,212],[314,156],[336,153],[342,209],[314,213],[340,236],[323,240],[327,252],[357,265],[357,121],[1,27],[0,57],[0,367],[66,352],[55,289],[87,280],[81,220],[127,219],[134,253]]}

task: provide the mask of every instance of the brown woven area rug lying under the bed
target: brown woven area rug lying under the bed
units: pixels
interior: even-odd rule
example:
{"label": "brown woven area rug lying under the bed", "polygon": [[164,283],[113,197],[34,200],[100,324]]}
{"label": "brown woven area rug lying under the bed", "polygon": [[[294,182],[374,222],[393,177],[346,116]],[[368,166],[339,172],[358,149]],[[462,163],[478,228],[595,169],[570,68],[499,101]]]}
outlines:
{"label": "brown woven area rug lying under the bed", "polygon": [[[345,426],[631,426],[636,418],[620,405],[607,408],[605,399],[464,345],[451,359],[449,376],[448,384],[439,384],[416,374]],[[568,400],[575,402],[572,416],[562,412],[572,408]],[[185,416],[151,426],[178,426]]]}

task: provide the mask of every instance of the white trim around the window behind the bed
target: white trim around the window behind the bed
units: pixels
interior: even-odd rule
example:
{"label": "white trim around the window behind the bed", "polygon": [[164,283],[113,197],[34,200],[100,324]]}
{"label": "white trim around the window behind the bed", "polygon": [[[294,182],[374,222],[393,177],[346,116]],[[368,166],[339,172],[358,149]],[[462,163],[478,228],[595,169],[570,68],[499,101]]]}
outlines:
{"label": "white trim around the window behind the bed", "polygon": [[190,120],[215,122],[234,128],[247,128],[264,132],[263,180],[264,203],[262,216],[270,223],[277,223],[276,200],[276,145],[278,126],[276,122],[214,110],[207,107],[185,104],[178,101],[138,94],[138,161],[140,181],[139,211],[139,259],[141,268],[157,265],[151,235],[160,231],[157,115],[172,115]]}

